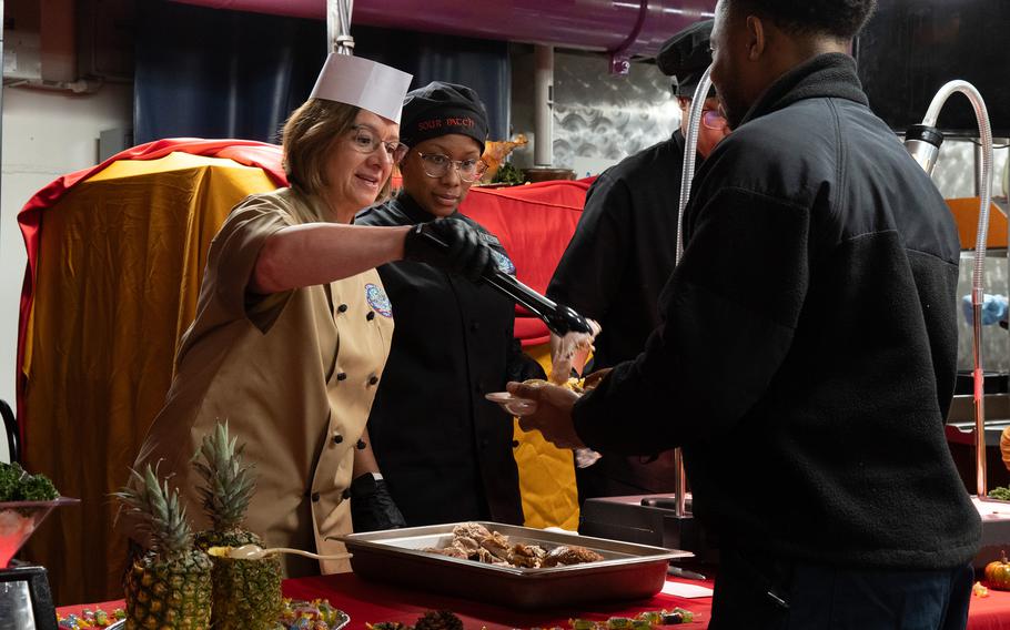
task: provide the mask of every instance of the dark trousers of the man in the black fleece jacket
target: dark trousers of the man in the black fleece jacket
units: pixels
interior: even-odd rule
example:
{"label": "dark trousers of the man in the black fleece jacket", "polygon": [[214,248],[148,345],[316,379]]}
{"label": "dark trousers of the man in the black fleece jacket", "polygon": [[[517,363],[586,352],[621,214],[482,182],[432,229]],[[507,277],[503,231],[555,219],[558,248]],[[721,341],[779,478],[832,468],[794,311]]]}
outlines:
{"label": "dark trousers of the man in the black fleece jacket", "polygon": [[710,630],[963,630],[971,567],[859,570],[720,549]]}

